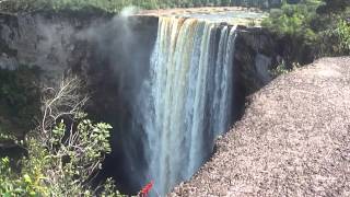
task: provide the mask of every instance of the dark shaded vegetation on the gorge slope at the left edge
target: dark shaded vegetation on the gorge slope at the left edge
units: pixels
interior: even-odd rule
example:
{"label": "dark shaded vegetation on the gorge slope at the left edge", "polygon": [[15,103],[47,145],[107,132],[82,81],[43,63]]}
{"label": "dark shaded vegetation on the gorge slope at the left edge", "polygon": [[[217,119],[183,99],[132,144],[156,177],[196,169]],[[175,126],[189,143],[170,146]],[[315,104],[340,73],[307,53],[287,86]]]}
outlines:
{"label": "dark shaded vegetation on the gorge slope at the left edge", "polygon": [[[23,132],[34,128],[39,114],[39,70],[21,66],[16,70],[0,69],[0,127],[2,130]],[[0,129],[1,134],[1,129]]]}

